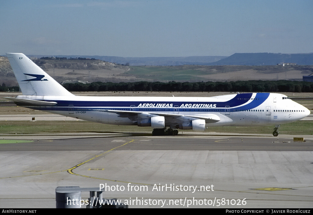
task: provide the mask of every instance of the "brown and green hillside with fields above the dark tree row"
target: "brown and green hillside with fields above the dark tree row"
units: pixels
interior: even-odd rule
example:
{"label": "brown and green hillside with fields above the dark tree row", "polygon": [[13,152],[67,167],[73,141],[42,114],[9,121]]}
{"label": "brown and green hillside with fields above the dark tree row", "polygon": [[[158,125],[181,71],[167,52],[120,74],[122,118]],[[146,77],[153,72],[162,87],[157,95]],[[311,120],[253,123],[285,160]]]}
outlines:
{"label": "brown and green hillside with fields above the dark tree row", "polygon": [[[28,57],[34,57],[28,55]],[[50,56],[51,57],[51,56]],[[61,57],[61,56],[59,56]],[[74,56],[73,56],[74,57]],[[91,56],[89,56],[91,57]],[[95,57],[95,56],[93,56]],[[95,57],[96,58],[96,57]],[[123,66],[101,60],[41,59],[33,60],[56,81],[92,82],[199,82],[237,80],[298,80],[313,72],[313,66],[244,66],[244,65],[182,65]],[[293,62],[295,63],[295,62]],[[299,64],[299,63],[298,63]],[[0,84],[17,86],[7,57],[0,56]]]}

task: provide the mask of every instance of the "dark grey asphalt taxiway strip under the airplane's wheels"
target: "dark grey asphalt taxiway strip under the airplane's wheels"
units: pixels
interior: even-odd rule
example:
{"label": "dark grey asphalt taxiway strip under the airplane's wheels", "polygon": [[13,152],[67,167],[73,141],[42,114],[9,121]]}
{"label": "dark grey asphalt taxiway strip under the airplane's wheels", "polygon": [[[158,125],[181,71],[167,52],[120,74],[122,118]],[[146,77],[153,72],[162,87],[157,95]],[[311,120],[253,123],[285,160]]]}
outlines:
{"label": "dark grey asphalt taxiway strip under the airplane's wheels", "polygon": [[[214,150],[214,151],[313,151],[313,138],[305,136],[305,142],[293,142],[293,135],[253,135],[185,132],[178,136],[151,137],[150,133],[77,133],[58,135],[10,135],[5,139],[32,139],[31,143],[2,144],[0,151],[88,151],[110,150],[120,143],[132,140],[116,150]],[[43,138],[47,138],[43,139]],[[118,138],[118,139],[116,139]],[[39,141],[40,139],[40,141]]]}

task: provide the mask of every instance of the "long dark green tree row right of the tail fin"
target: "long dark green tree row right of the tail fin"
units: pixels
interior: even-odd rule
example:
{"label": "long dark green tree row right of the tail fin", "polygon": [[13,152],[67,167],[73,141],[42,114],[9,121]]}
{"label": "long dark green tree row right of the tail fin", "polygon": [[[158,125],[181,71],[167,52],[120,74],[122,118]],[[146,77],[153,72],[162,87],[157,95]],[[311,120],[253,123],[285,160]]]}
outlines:
{"label": "long dark green tree row right of the tail fin", "polygon": [[66,83],[69,91],[173,91],[173,92],[313,92],[313,83],[300,81],[235,81],[235,82],[93,82]]}

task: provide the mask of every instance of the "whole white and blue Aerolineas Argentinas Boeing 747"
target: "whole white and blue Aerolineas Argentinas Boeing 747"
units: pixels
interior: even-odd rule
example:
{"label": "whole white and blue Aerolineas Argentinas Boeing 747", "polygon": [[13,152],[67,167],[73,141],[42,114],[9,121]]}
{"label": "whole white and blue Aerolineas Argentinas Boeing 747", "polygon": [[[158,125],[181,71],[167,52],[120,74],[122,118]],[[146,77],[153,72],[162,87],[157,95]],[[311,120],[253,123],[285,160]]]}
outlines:
{"label": "whole white and blue Aerolineas Argentinas Boeing 747", "polygon": [[[205,131],[213,126],[275,126],[310,114],[279,93],[241,93],[214,97],[75,96],[22,53],[7,53],[23,95],[6,97],[19,106],[112,125],[151,127],[152,135],[176,129]],[[166,129],[168,127],[168,129]]]}

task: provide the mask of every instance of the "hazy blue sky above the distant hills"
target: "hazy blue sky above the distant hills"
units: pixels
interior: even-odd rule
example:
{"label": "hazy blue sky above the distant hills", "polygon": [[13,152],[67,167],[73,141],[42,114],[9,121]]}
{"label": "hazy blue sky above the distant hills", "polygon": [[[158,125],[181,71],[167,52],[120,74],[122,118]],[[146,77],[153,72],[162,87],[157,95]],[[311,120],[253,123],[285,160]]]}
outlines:
{"label": "hazy blue sky above the distant hills", "polygon": [[0,0],[0,54],[312,53],[312,0]]}

